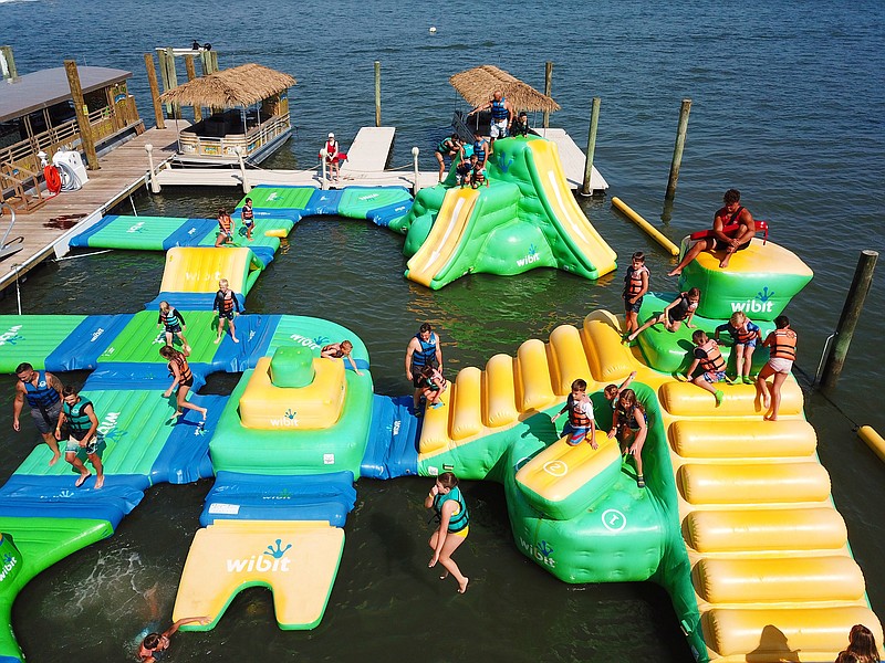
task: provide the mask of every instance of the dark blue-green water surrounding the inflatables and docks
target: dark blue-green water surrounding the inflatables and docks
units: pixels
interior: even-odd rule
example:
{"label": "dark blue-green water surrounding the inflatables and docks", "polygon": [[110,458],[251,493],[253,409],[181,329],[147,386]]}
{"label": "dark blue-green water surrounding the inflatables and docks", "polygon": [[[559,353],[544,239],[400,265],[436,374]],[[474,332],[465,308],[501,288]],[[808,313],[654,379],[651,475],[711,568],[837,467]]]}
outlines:
{"label": "dark blue-green water surrounding the inflatables and docks", "polygon": [[[602,98],[595,162],[618,196],[660,223],[679,102],[691,98],[671,220],[678,239],[709,224],[722,192],[736,187],[771,236],[815,272],[789,309],[800,334],[799,367],[814,373],[840,315],[863,249],[881,250],[885,188],[885,3],[637,1],[558,3],[0,3],[3,41],[21,73],[80,64],[127,69],[143,117],[150,117],[143,54],[155,46],[209,41],[222,66],[259,62],[295,78],[295,139],[271,166],[310,167],[323,137],[346,145],[374,120],[373,61],[382,62],[382,115],[397,127],[391,165],[434,168],[458,97],[447,80],[498,65],[543,87],[554,62],[553,96],[563,110],[551,124],[585,141],[591,98]],[[436,34],[428,32],[437,28]],[[180,67],[180,76],[184,67]],[[540,118],[539,118],[540,119]],[[139,194],[143,213],[210,215],[236,192]],[[607,200],[583,203],[622,256],[652,253],[653,288],[671,290],[669,259]],[[471,276],[439,293],[405,282],[402,240],[360,224],[300,225],[250,295],[254,311],[331,317],[366,341],[382,393],[405,392],[400,362],[418,322],[439,325],[449,366],[481,366],[513,352],[527,337],[576,324],[597,307],[620,308],[618,278],[583,282],[535,272],[516,278]],[[623,261],[622,261],[623,262]],[[133,311],[156,295],[159,255],[113,254],[50,265],[23,296],[30,313]],[[820,455],[833,481],[874,609],[885,614],[885,466],[852,432],[885,431],[883,388],[885,293],[874,281],[839,389],[831,401],[806,399]],[[14,309],[10,301],[0,311]],[[230,378],[210,388],[223,392]],[[11,396],[4,387],[0,399]],[[8,414],[0,415],[7,428]],[[8,430],[8,429],[7,429]],[[4,475],[28,452],[4,444]],[[6,435],[4,435],[4,442]],[[35,661],[69,660],[71,648],[118,660],[150,619],[168,619],[175,588],[209,483],[159,487],[111,540],[35,579],[17,602],[14,627]],[[648,585],[566,587],[533,567],[510,540],[498,486],[473,485],[462,565],[477,578],[466,597],[440,588],[426,566],[421,480],[363,481],[347,526],[342,571],[323,624],[311,633],[275,629],[268,594],[251,590],[214,632],[178,636],[176,661],[205,656],[258,661],[366,656],[452,661],[685,661],[688,653],[665,594]],[[157,603],[145,598],[158,587]],[[457,600],[456,600],[457,599]],[[153,606],[153,608],[152,608]],[[72,608],[73,607],[73,608]],[[152,612],[154,610],[154,612]],[[45,638],[51,631],[58,635]],[[440,633],[441,631],[441,633]],[[455,633],[457,636],[454,636]]]}

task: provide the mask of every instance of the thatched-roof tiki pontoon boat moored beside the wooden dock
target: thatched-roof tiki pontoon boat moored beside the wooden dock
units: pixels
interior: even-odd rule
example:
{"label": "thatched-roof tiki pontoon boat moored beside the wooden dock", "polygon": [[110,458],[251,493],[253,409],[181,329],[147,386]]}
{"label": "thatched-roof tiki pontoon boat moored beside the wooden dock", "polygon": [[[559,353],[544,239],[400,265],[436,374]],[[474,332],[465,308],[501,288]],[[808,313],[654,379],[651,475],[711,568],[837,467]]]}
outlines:
{"label": "thatched-roof tiki pontoon boat moored beside the wooden dock", "polygon": [[[292,131],[289,88],[295,80],[260,64],[243,64],[188,81],[160,96],[192,106],[194,125],[178,134],[178,158],[200,164],[258,164]],[[206,117],[204,108],[210,108]]]}

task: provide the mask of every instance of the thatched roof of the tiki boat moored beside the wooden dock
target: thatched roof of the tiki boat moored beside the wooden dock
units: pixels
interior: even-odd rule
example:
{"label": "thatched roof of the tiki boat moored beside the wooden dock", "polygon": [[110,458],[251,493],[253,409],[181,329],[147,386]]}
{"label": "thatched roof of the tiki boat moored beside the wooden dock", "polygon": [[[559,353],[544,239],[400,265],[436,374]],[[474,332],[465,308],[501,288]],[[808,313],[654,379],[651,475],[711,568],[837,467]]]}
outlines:
{"label": "thatched roof of the tiki boat moored beside the wooden dock", "polygon": [[242,64],[188,81],[164,92],[159,98],[164,104],[236,108],[251,106],[294,84],[295,80],[289,74],[260,64]]}

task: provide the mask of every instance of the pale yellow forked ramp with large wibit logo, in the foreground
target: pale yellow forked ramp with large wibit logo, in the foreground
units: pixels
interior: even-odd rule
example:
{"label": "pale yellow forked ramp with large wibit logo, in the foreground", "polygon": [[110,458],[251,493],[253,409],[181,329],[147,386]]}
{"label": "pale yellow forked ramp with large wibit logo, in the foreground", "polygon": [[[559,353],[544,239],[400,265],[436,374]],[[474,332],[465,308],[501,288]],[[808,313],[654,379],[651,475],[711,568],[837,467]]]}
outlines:
{"label": "pale yellow forked ramp with large wibit logo, in the foreground", "polygon": [[215,628],[240,590],[273,592],[277,623],[313,629],[323,618],[344,549],[344,530],[315,520],[216,520],[199,529],[185,562],[173,619],[209,617]]}

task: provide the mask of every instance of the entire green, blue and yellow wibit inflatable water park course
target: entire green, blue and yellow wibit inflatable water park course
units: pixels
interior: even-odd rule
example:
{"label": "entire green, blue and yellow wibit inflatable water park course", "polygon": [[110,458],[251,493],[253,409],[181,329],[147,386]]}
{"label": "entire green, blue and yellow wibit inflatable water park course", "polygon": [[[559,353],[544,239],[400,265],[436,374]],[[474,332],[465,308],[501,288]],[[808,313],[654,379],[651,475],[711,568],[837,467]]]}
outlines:
{"label": "entire green, blue and yellow wibit inflatable water park course", "polygon": [[[488,189],[437,187],[419,194],[412,211],[399,190],[257,188],[262,241],[279,242],[277,234],[308,213],[346,209],[405,231],[407,244],[412,238],[418,245],[409,271],[431,287],[479,271],[469,256],[489,253],[488,242],[537,241],[539,255],[548,256],[538,262],[589,277],[614,267],[614,254],[602,250],[586,219],[556,194],[549,146],[500,140],[496,151],[490,171],[500,179]],[[82,241],[122,242],[127,224],[132,218],[111,219]],[[374,393],[365,344],[334,322],[247,308],[237,318],[240,343],[225,336],[216,345],[209,308],[218,278],[228,278],[244,303],[272,252],[268,259],[261,244],[239,235],[235,248],[208,246],[208,224],[180,232],[199,225],[167,223],[150,230],[145,246],[160,250],[173,235],[184,242],[167,248],[158,299],[187,316],[190,400],[208,409],[205,422],[190,410],[176,421],[174,400],[160,396],[170,378],[157,351],[165,343],[157,299],[134,314],[0,316],[4,370],[30,361],[51,371],[92,371],[82,393],[100,420],[106,474],[101,490],[93,478],[76,488],[70,467],[50,466],[50,451],[39,444],[0,487],[0,620],[8,625],[31,578],[111,536],[150,485],[215,476],[174,618],[206,614],[208,624],[185,629],[211,629],[239,591],[262,586],[273,592],[280,628],[314,628],[341,561],[354,481],[454,471],[503,485],[516,546],[554,577],[666,588],[697,661],[833,660],[855,623],[881,641],[792,377],[778,421],[762,420],[751,385],[722,385],[717,406],[711,393],[671,375],[685,370],[688,330],[656,326],[626,346],[621,318],[597,311],[580,327],[556,327],[546,341],[524,341],[514,356],[462,369],[419,425],[410,396]],[[421,253],[428,242],[437,256]],[[737,309],[768,330],[810,278],[792,253],[754,240],[727,270],[716,255],[701,254],[680,287],[701,288],[695,324],[708,333]],[[673,296],[647,295],[641,316]],[[323,345],[344,338],[358,372],[320,357]],[[759,348],[758,361],[766,355]],[[242,373],[229,397],[197,393],[215,371]],[[635,461],[607,436],[612,406],[603,393],[633,372],[648,431],[644,486]],[[551,421],[577,378],[589,385],[597,449],[569,445]],[[0,629],[0,662],[22,660],[11,627]]]}

